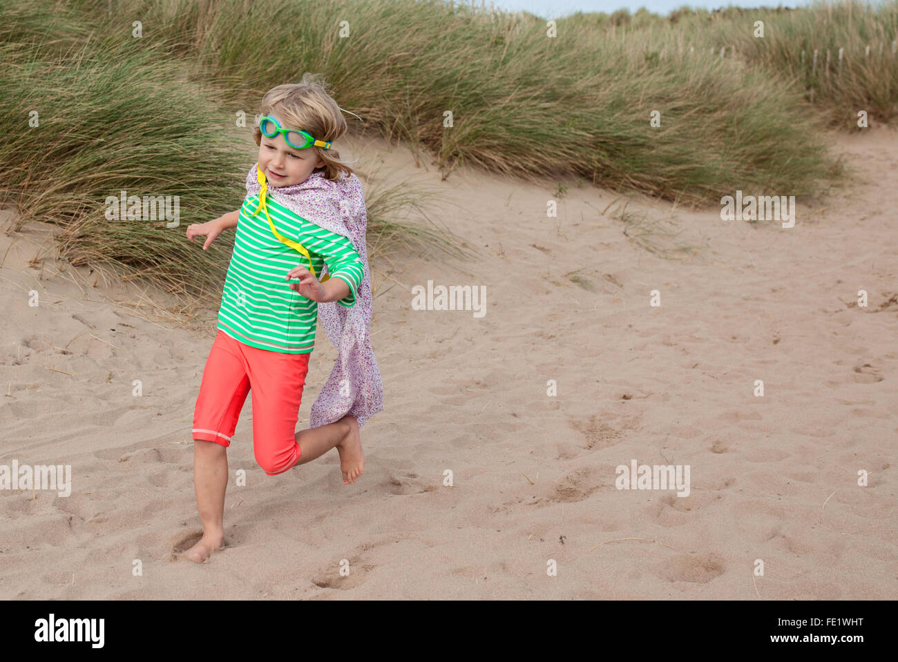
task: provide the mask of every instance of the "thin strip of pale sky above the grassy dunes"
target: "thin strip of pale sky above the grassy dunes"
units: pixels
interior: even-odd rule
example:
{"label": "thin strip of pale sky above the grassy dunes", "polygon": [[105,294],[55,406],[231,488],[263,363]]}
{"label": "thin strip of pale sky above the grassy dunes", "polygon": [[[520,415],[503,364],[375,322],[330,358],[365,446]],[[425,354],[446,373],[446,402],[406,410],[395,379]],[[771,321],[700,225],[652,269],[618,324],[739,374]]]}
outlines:
{"label": "thin strip of pale sky above the grassy dunes", "polygon": [[[480,6],[481,0],[474,0]],[[469,4],[471,0],[456,0],[457,3]],[[691,7],[704,7],[705,9],[717,9],[730,4],[736,7],[797,7],[809,4],[809,0],[760,0],[759,2],[711,2],[710,0],[492,0],[493,4],[503,9],[516,11],[525,9],[542,18],[560,18],[570,13],[580,12],[604,12],[612,13],[616,9],[629,9],[630,13],[636,12],[639,7],[645,7],[649,12],[666,14],[672,9],[677,9],[683,4]],[[489,8],[489,0],[487,0]]]}

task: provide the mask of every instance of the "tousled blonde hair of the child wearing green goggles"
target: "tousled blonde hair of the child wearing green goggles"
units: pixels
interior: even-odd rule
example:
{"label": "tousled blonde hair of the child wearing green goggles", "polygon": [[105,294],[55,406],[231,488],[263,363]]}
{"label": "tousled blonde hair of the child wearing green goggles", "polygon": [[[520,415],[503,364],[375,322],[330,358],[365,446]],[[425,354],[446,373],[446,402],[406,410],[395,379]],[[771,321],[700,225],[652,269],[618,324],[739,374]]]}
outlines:
{"label": "tousled blonde hair of the child wearing green goggles", "polygon": [[[335,142],[347,131],[346,119],[343,118],[337,101],[330,96],[321,74],[303,75],[301,83],[285,83],[277,85],[265,92],[262,97],[262,115],[276,114],[286,128],[297,128],[308,131],[318,140],[327,143]],[[252,132],[256,144],[262,144],[262,132],[256,126]],[[313,172],[321,172],[324,177],[335,181],[339,173],[353,174],[352,168],[340,161],[339,152],[330,146],[330,150],[321,147],[307,147],[324,161],[322,168]]]}

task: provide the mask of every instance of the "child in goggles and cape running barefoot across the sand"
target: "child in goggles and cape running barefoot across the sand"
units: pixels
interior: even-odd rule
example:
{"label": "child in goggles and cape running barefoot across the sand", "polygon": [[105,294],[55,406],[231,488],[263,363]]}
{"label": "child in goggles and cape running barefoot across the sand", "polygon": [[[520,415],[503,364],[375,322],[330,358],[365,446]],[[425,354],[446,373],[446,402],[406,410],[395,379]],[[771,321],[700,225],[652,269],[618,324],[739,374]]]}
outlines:
{"label": "child in goggles and cape running barefoot across the sand", "polygon": [[[268,91],[261,110],[259,161],[247,175],[242,207],[187,228],[191,241],[207,237],[204,250],[225,228],[237,228],[193,419],[203,536],[185,556],[196,562],[224,547],[226,449],[248,392],[253,451],[266,475],[336,447],[343,483],[355,483],[365,466],[359,431],[383,411],[368,340],[365,198],[332,148],[346,120],[312,74]],[[296,432],[318,315],[339,358],[312,405],[310,429]]]}

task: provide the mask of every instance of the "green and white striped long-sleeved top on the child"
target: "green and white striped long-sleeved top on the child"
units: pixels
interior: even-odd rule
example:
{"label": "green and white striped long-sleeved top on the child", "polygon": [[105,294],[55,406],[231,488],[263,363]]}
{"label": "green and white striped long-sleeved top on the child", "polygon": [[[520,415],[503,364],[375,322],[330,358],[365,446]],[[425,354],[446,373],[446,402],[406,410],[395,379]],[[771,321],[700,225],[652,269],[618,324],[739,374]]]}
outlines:
{"label": "green and white striped long-sleeved top on the child", "polygon": [[[365,265],[346,237],[306,221],[283,205],[265,197],[277,231],[298,241],[312,257],[315,274],[327,262],[331,278],[349,285],[342,306],[356,302]],[[218,327],[243,344],[287,354],[313,350],[318,302],[290,289],[286,273],[295,266],[309,268],[309,261],[277,239],[265,212],[251,216],[259,206],[259,196],[246,196],[240,208],[233,240],[231,263],[225,276]]]}

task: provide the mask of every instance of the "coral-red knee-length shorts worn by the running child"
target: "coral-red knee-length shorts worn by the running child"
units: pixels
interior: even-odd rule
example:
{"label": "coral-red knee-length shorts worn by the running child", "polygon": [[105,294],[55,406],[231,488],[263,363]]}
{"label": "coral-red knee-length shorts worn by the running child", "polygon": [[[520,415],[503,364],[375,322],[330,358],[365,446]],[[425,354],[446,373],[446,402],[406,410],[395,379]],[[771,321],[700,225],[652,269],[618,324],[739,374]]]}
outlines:
{"label": "coral-red knee-length shorts worn by the running child", "polygon": [[252,449],[267,475],[284,473],[300,456],[296,421],[310,354],[270,352],[218,329],[193,414],[193,439],[228,447],[246,394],[252,391]]}

